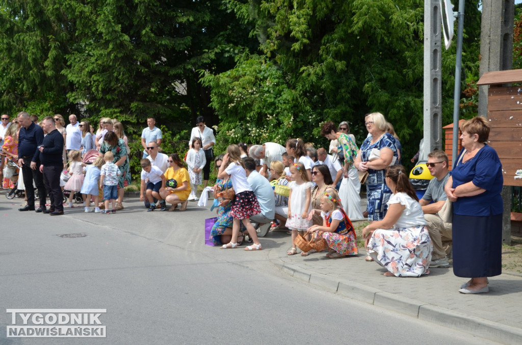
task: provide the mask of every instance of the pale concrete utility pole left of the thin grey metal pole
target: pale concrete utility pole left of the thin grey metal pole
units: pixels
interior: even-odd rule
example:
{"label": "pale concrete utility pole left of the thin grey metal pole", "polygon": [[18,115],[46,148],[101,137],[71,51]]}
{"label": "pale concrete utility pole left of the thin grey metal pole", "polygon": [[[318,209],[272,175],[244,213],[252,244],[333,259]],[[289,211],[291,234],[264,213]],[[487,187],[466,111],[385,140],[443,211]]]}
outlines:
{"label": "pale concrete utility pole left of the thin grey metal pole", "polygon": [[438,0],[424,1],[424,157],[442,147],[441,9]]}

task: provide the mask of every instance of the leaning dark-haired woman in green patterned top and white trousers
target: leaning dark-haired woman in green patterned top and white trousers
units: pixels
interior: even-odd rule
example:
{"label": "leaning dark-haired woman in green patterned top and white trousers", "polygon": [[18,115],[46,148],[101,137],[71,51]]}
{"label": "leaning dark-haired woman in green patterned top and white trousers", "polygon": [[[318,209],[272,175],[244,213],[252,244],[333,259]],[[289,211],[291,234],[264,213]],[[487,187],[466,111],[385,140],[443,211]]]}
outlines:
{"label": "leaning dark-haired woman in green patterned top and white trousers", "polygon": [[[340,125],[339,127],[347,127],[346,125]],[[350,219],[363,219],[361,212],[361,183],[359,181],[359,174],[355,169],[353,162],[355,156],[357,156],[357,145],[355,144],[355,137],[353,134],[347,134],[347,130],[339,130],[336,132],[336,127],[333,122],[328,121],[323,124],[321,128],[321,134],[330,140],[337,140],[337,154],[340,157],[344,157],[343,166],[343,179],[339,186],[339,197],[343,200],[342,203],[345,205],[345,211]]]}

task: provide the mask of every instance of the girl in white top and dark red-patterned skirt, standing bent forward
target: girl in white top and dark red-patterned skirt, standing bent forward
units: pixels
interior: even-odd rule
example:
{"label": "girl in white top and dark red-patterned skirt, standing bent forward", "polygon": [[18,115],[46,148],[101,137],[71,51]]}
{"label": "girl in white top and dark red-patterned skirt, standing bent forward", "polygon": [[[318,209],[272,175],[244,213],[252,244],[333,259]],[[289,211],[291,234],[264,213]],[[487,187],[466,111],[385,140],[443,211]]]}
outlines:
{"label": "girl in white top and dark red-patterned skirt, standing bent forward", "polygon": [[238,145],[229,145],[227,154],[224,155],[221,166],[218,171],[218,179],[232,180],[235,195],[232,199],[230,215],[232,216],[232,239],[229,243],[223,244],[222,249],[237,248],[238,235],[240,225],[243,223],[248,231],[248,237],[252,239],[254,244],[245,247],[245,251],[260,251],[263,249],[257,238],[257,233],[252,224],[250,217],[261,213],[261,207],[257,202],[256,195],[252,191],[250,184],[246,180],[246,171],[243,160],[241,159],[241,151]]}

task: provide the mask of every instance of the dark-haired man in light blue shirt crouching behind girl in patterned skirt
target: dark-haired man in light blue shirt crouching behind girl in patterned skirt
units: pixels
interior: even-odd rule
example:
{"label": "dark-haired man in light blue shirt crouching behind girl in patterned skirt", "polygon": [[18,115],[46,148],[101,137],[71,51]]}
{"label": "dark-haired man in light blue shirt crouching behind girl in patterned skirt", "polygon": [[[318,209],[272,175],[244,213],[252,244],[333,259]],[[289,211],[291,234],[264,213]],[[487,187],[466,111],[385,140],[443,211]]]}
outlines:
{"label": "dark-haired man in light blue shirt crouching behind girl in patterned skirt", "polygon": [[261,213],[250,217],[255,223],[269,223],[276,215],[276,196],[268,180],[256,171],[256,163],[251,157],[243,158],[246,169],[246,180],[256,195]]}

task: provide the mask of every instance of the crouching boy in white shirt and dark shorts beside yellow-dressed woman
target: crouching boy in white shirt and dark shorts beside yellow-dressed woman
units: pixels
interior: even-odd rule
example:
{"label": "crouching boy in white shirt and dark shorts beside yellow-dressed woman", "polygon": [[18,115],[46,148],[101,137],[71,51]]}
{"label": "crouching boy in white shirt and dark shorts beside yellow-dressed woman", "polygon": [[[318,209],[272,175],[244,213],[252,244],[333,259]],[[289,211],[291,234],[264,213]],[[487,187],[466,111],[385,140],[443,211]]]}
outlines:
{"label": "crouching boy in white shirt and dark shorts beside yellow-dressed woman", "polygon": [[[144,201],[144,191],[146,189],[147,200],[149,201],[149,208],[147,211],[153,211],[156,209],[156,205],[154,204],[154,198],[160,200],[161,211],[167,210],[167,204],[165,204],[165,200],[160,196],[160,192],[163,192],[165,189],[165,175],[163,172],[155,165],[150,163],[150,160],[144,158],[141,160],[141,185],[139,188],[139,201]],[[145,188],[145,180],[149,180],[147,183],[147,188]]]}

